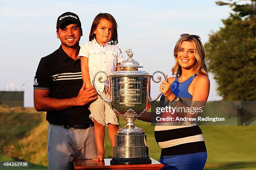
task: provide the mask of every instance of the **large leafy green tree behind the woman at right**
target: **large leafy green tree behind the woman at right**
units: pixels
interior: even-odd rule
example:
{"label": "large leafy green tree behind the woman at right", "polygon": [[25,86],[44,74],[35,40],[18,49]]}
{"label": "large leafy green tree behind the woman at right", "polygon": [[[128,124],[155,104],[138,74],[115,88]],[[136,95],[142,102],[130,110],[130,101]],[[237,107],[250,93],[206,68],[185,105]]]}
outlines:
{"label": "large leafy green tree behind the woman at right", "polygon": [[230,5],[233,13],[205,44],[208,70],[223,100],[256,100],[256,0],[240,2],[216,2]]}

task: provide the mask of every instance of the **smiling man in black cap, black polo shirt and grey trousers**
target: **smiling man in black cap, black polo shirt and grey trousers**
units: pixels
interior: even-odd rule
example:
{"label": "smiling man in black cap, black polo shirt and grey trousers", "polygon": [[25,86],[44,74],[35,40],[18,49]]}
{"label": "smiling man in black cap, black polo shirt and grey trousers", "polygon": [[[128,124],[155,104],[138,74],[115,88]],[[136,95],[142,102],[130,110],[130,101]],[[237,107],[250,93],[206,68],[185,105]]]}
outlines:
{"label": "smiling man in black cap, black polo shirt and grey trousers", "polygon": [[[94,87],[85,89],[78,59],[82,28],[74,13],[59,16],[56,25],[58,50],[41,58],[34,80],[34,105],[47,111],[49,169],[73,169],[74,159],[97,155],[94,124],[87,103],[97,99]],[[82,88],[81,88],[82,87]]]}

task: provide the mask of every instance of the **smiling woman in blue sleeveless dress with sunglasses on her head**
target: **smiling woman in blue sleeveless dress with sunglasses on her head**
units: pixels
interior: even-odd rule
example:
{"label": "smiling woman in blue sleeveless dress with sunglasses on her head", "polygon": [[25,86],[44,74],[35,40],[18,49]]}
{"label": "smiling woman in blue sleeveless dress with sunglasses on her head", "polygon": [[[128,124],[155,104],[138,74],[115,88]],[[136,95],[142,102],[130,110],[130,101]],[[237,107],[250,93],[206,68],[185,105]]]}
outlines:
{"label": "smiling woman in blue sleeveless dress with sunglasses on her head", "polygon": [[[198,35],[182,34],[174,48],[176,63],[168,82],[163,81],[160,91],[163,92],[160,101],[171,107],[185,107],[191,110],[172,114],[175,117],[195,118],[198,110],[192,112],[192,107],[203,108],[207,101],[210,81],[205,66],[205,52]],[[189,105],[184,103],[190,102]],[[196,102],[197,101],[197,102]],[[200,102],[199,102],[200,101]],[[193,113],[193,114],[192,114]],[[163,117],[163,113],[161,116]],[[148,120],[145,115],[141,120]],[[203,170],[207,159],[202,131],[196,121],[169,122],[168,125],[157,123],[155,138],[161,147],[160,163],[168,170]]]}

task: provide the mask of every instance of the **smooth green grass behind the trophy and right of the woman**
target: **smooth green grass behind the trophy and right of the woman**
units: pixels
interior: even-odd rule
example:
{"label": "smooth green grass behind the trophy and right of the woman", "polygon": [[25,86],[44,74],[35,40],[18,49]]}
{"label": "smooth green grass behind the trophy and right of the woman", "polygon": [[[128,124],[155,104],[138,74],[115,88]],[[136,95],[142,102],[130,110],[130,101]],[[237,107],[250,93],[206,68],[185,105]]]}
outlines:
{"label": "smooth green grass behind the trophy and right of the woman", "polygon": [[[125,122],[120,118],[121,128]],[[147,135],[149,156],[159,160],[161,149],[154,138],[154,126],[141,120],[135,121]],[[207,147],[205,169],[256,168],[256,126],[201,126]],[[107,131],[106,131],[107,134]],[[112,148],[105,136],[106,157],[112,158]]]}

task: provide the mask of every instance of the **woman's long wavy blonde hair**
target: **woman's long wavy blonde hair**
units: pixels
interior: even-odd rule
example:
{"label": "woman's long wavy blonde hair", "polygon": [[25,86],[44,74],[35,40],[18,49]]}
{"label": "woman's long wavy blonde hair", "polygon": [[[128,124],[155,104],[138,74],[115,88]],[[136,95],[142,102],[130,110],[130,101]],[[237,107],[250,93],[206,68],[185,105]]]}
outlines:
{"label": "woman's long wavy blonde hair", "polygon": [[174,65],[174,67],[172,67],[172,75],[176,74],[176,77],[178,77],[179,75],[182,74],[182,68],[178,63],[177,54],[180,50],[180,47],[181,47],[181,44],[182,44],[183,41],[189,41],[189,42],[192,42],[195,45],[196,62],[195,62],[195,65],[193,66],[194,75],[195,74],[197,74],[197,75],[206,75],[208,77],[207,67],[205,65],[205,50],[204,50],[204,47],[202,45],[202,42],[200,40],[195,39],[191,35],[181,37],[178,40],[178,42],[176,43],[175,47],[174,47],[175,65]]}

